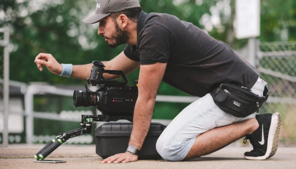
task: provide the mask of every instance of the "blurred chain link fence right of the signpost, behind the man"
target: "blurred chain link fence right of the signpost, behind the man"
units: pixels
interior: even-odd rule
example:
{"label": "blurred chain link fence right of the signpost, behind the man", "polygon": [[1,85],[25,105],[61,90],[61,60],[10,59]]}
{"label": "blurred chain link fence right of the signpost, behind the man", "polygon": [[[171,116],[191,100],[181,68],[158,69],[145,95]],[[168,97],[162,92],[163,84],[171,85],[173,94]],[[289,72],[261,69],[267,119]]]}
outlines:
{"label": "blurred chain link fence right of the signpost, behind the man", "polygon": [[279,112],[282,115],[281,142],[295,143],[296,42],[265,42],[258,47],[257,71],[271,90],[260,112]]}

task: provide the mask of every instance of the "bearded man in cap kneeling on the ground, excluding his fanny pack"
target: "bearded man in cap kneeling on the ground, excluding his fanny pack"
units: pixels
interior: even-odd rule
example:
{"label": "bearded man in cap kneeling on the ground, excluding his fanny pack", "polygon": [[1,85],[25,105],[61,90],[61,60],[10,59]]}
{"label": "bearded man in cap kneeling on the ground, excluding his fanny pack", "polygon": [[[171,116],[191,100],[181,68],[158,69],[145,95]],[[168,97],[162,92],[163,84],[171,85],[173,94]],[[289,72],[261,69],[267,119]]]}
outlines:
{"label": "bearded man in cap kneeling on the ground, excluding his fanny pack", "polygon": [[[96,14],[83,20],[99,22],[98,35],[111,47],[127,43],[123,52],[108,62],[106,70],[128,74],[140,67],[139,96],[134,109],[128,148],[141,150],[149,130],[161,81],[202,98],[190,104],[163,131],[157,152],[167,161],[181,161],[214,152],[246,136],[253,145],[244,157],[265,160],[276,152],[281,117],[279,113],[237,118],[222,111],[209,92],[220,83],[251,88],[263,96],[266,82],[255,68],[227,44],[215,40],[192,23],[168,14],[141,11],[138,0],[98,0]],[[92,64],[59,64],[51,54],[39,54],[35,62],[42,71],[85,80]],[[115,79],[116,75],[104,74]],[[255,117],[256,115],[256,117]],[[131,151],[116,154],[103,163],[136,161]]]}

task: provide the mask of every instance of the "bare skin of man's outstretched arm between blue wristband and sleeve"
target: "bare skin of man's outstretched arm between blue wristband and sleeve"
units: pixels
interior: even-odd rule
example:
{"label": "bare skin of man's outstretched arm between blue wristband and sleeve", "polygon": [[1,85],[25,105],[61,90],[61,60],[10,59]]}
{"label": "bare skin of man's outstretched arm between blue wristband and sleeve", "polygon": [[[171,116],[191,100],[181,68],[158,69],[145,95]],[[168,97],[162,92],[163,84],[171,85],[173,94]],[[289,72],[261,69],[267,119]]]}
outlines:
{"label": "bare skin of man's outstretched arm between blue wristband and sleeve", "polygon": [[[120,54],[118,54],[114,59],[110,61],[104,61],[102,63],[106,66],[104,67],[105,70],[121,70],[125,75],[131,73],[140,66],[139,62],[133,61],[126,57],[123,51]],[[73,72],[71,77],[82,80],[89,78],[92,66],[92,63],[87,65],[73,65]],[[105,79],[117,79],[120,76],[104,73],[103,77]]]}

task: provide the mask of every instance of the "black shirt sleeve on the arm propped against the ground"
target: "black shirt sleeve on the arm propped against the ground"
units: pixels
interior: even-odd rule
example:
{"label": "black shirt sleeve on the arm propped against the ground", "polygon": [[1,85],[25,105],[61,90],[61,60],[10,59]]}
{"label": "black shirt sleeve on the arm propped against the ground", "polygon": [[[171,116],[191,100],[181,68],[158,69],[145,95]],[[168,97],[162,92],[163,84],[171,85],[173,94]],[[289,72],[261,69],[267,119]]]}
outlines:
{"label": "black shirt sleeve on the arm propped against the ground", "polygon": [[168,62],[173,49],[174,37],[167,28],[157,24],[148,24],[144,26],[139,36],[141,65]]}

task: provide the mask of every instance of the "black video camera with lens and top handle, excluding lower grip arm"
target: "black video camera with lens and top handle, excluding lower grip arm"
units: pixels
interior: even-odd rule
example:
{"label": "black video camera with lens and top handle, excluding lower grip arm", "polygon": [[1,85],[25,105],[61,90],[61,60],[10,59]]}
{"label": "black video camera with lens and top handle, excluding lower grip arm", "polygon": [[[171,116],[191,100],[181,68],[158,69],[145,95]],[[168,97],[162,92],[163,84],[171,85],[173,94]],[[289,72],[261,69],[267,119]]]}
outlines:
{"label": "black video camera with lens and top handle, excluding lower grip arm", "polygon": [[[138,87],[126,85],[128,80],[120,70],[104,70],[105,65],[100,61],[93,61],[90,78],[86,79],[86,91],[75,90],[73,94],[74,107],[94,106],[102,115],[131,116],[138,97]],[[122,82],[103,78],[103,73],[120,75]],[[137,81],[136,81],[137,83]],[[103,85],[93,92],[87,88]]]}

